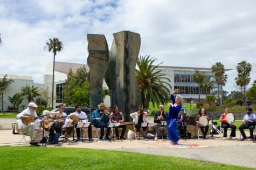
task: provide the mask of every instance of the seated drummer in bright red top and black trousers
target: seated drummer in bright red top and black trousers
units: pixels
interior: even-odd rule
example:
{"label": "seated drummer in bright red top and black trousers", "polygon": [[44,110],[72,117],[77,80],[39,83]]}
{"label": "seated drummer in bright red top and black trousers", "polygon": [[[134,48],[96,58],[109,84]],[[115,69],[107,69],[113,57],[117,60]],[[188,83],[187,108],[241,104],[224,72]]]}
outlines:
{"label": "seated drummer in bright red top and black trousers", "polygon": [[230,113],[230,109],[229,108],[225,108],[224,110],[224,113],[222,115],[220,115],[220,118],[219,118],[219,121],[222,122],[222,128],[224,129],[224,132],[223,132],[223,139],[226,139],[227,137],[227,128],[231,128],[231,134],[230,134],[230,139],[231,140],[235,140],[234,137],[236,137],[236,125],[233,125],[233,124],[229,124],[227,122],[227,119],[226,119],[226,115]]}

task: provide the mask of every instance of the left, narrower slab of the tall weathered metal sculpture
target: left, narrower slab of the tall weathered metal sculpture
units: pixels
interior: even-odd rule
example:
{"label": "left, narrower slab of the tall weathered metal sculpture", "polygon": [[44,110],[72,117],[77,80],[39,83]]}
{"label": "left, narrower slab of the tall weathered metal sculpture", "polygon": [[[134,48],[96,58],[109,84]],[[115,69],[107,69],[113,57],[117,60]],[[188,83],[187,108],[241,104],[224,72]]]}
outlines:
{"label": "left, narrower slab of the tall weathered metal sculpture", "polygon": [[103,102],[102,83],[106,74],[109,60],[107,40],[104,35],[87,34],[88,53],[87,65],[89,66],[88,82],[91,113]]}

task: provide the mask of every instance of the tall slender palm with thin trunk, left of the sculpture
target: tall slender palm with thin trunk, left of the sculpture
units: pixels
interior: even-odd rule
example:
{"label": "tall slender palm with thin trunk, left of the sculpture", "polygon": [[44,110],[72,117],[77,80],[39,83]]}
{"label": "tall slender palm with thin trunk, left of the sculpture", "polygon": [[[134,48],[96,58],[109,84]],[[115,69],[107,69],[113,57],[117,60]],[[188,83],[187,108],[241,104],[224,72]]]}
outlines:
{"label": "tall slender palm with thin trunk, left of the sculpture", "polygon": [[55,56],[57,52],[63,50],[63,43],[59,41],[57,38],[49,39],[46,42],[46,46],[44,47],[45,50],[49,52],[53,52],[53,69],[52,69],[52,108],[53,108],[53,97],[54,97],[54,67],[55,67]]}

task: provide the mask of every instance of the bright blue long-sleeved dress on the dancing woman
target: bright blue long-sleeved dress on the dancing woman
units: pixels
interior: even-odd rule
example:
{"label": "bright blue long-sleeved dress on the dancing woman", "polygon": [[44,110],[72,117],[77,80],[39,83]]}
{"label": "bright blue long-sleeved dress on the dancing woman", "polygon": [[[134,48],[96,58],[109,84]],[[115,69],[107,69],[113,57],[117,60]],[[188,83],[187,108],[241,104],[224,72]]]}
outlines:
{"label": "bright blue long-sleeved dress on the dancing woman", "polygon": [[[171,100],[172,100],[172,104],[175,104],[175,98],[174,95],[171,94]],[[169,136],[169,140],[171,140],[172,142],[178,142],[179,140],[179,135],[178,135],[178,113],[179,110],[181,110],[181,105],[177,105],[177,106],[173,106],[169,108],[169,114],[167,116],[167,120],[169,122],[168,124],[168,136]]]}

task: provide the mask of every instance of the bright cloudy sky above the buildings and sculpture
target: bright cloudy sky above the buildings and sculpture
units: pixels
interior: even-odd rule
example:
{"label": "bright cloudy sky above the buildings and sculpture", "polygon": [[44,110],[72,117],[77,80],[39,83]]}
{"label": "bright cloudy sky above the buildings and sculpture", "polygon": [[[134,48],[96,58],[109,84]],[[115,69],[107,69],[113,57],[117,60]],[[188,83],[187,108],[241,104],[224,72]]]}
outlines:
{"label": "bright cloudy sky above the buildings and sculpture", "polygon": [[256,1],[237,0],[0,0],[0,74],[32,76],[41,83],[53,53],[49,38],[64,49],[56,61],[85,63],[87,34],[104,34],[110,49],[113,33],[141,36],[140,54],[155,64],[227,69],[224,90],[238,90],[234,78],[241,61],[252,64],[256,80]]}

